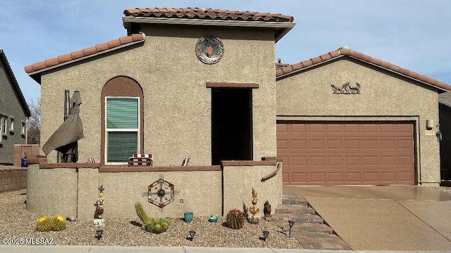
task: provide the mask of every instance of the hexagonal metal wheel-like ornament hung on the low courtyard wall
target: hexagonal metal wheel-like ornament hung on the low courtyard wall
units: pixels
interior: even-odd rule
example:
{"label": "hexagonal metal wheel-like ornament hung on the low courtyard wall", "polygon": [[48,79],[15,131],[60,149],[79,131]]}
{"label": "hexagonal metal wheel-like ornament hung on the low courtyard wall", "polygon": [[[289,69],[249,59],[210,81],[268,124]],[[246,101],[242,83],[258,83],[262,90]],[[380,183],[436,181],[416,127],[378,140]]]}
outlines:
{"label": "hexagonal metal wheel-like ornament hung on the low courtyard wall", "polygon": [[147,196],[149,202],[163,209],[174,201],[174,185],[164,180],[161,175],[160,179],[147,186]]}

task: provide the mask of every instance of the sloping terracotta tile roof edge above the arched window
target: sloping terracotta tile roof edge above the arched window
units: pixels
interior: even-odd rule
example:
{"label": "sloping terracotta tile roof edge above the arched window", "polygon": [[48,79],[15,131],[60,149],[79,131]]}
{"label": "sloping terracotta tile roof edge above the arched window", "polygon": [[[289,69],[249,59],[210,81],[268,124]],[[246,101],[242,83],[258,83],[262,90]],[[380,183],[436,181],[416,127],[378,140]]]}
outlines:
{"label": "sloping terracotta tile roof edge above the arched window", "polygon": [[93,56],[96,53],[101,53],[113,48],[117,48],[118,46],[124,46],[127,44],[133,44],[133,42],[139,42],[144,41],[146,38],[145,34],[132,34],[130,36],[121,37],[119,39],[115,39],[112,41],[108,41],[103,44],[99,44],[97,46],[91,46],[88,48],[84,48],[80,51],[75,51],[72,53],[68,53],[63,56],[58,56],[56,58],[51,58],[49,60],[44,60],[40,63],[33,63],[32,65],[28,65],[25,67],[25,72],[27,74],[30,74],[32,72],[38,71],[38,70],[45,70],[49,67],[55,67],[58,65],[61,65],[63,63],[70,63],[74,60],[78,60],[80,58],[86,58],[89,56]]}

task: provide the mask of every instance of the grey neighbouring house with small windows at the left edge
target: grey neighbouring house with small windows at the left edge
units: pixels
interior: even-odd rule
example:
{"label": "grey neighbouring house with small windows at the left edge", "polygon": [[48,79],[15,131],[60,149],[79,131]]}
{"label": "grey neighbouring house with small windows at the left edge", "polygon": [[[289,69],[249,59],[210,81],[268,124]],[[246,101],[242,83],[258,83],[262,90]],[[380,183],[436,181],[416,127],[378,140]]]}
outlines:
{"label": "grey neighbouring house with small windows at the left edge", "polygon": [[30,109],[0,49],[0,164],[13,164],[14,144],[25,144]]}

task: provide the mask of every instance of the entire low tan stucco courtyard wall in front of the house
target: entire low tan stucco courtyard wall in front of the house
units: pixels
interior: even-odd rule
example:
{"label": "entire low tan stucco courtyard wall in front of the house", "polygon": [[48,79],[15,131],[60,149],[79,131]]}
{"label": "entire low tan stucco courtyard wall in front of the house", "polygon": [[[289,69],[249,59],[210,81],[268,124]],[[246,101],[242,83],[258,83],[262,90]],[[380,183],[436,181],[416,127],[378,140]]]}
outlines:
{"label": "entire low tan stucco courtyard wall in front of the house", "polygon": [[[56,164],[51,164],[54,167]],[[252,207],[252,188],[259,197],[257,208],[263,216],[264,202],[273,210],[282,204],[282,174],[261,182],[276,170],[276,165],[224,166],[223,171],[141,171],[99,172],[99,168],[27,169],[27,210],[34,214],[76,216],[94,219],[99,186],[104,186],[103,218],[137,219],[135,203],[141,202],[149,217],[182,218],[185,212],[194,216],[222,216],[243,205]],[[174,185],[174,201],[159,209],[148,202],[147,187],[163,179]],[[171,192],[166,190],[170,198]],[[156,190],[152,191],[156,193]],[[155,196],[155,195],[154,195]]]}

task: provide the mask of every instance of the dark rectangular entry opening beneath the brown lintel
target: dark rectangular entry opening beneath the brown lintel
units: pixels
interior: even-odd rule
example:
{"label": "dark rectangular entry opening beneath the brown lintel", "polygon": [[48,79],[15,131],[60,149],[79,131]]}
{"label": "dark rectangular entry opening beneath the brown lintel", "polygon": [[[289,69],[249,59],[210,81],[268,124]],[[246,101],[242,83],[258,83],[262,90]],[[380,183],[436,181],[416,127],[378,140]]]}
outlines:
{"label": "dark rectangular entry opening beneath the brown lintel", "polygon": [[252,89],[212,89],[211,164],[252,158]]}

